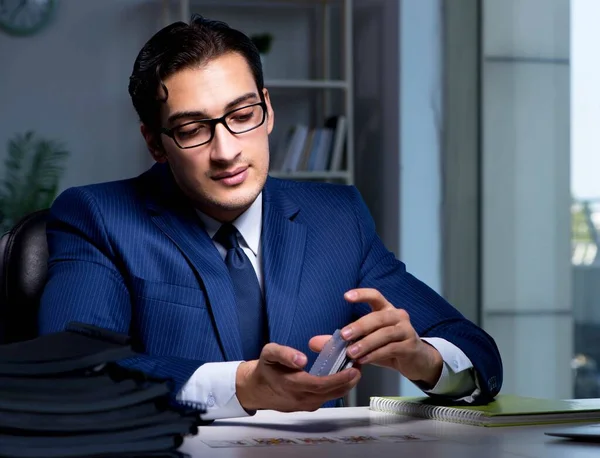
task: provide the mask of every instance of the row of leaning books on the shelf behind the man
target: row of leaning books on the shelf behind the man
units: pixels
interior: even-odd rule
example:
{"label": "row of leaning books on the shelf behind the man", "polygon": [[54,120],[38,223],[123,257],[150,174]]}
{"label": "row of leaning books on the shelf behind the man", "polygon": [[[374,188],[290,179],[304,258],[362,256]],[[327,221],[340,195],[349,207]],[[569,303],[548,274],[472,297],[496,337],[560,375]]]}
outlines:
{"label": "row of leaning books on the shelf behind the man", "polygon": [[271,170],[284,173],[341,171],[346,145],[346,117],[331,116],[323,127],[290,127],[271,159]]}

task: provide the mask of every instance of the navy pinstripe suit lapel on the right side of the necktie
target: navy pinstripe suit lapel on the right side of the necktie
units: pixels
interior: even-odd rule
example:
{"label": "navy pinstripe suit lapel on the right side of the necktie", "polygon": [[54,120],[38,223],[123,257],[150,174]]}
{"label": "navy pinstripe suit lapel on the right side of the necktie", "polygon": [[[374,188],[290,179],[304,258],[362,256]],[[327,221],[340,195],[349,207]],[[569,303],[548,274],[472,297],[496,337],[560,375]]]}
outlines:
{"label": "navy pinstripe suit lapel on the right side of the necktie", "polygon": [[285,345],[298,303],[306,226],[294,221],[298,206],[276,186],[269,178],[263,191],[262,264],[269,338]]}

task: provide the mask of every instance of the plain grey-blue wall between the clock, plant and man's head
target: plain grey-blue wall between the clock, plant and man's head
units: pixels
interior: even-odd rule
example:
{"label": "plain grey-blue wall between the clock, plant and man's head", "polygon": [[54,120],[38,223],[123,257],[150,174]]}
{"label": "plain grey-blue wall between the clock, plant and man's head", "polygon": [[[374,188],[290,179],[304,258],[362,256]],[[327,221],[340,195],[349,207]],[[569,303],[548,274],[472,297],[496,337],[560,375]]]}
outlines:
{"label": "plain grey-blue wall between the clock, plant and man's head", "polygon": [[69,186],[137,175],[150,164],[127,93],[160,4],[63,0],[32,37],[0,33],[0,172],[6,142],[34,130],[63,141]]}

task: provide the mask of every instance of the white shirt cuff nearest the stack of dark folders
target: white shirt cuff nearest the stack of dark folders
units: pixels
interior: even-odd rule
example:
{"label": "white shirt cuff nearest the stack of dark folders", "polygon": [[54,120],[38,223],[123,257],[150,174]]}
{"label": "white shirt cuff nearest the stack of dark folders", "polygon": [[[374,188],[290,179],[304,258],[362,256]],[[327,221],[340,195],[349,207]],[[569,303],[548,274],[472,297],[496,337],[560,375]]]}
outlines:
{"label": "white shirt cuff nearest the stack of dark folders", "polygon": [[192,407],[202,406],[202,420],[247,417],[235,394],[235,377],[242,361],[205,363],[183,386],[177,400]]}

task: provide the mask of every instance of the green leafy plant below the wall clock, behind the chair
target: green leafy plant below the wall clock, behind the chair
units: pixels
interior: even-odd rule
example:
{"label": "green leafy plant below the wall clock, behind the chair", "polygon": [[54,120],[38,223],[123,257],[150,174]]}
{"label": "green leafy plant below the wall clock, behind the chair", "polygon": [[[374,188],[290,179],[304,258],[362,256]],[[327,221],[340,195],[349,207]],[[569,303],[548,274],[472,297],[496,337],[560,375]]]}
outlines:
{"label": "green leafy plant below the wall clock, behind the chair", "polygon": [[69,156],[62,143],[29,131],[8,141],[4,177],[0,181],[0,232],[22,217],[50,207]]}

